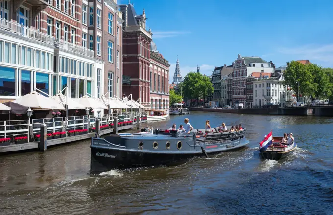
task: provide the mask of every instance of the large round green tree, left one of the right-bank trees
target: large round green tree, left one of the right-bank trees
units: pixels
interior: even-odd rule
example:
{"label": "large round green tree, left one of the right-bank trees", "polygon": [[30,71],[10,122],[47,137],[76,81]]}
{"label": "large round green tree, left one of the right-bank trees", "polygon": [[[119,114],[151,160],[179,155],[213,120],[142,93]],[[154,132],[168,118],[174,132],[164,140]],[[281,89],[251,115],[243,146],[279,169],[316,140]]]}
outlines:
{"label": "large round green tree, left one of the right-bank trees", "polygon": [[284,72],[284,84],[290,86],[297,98],[299,95],[314,97],[316,84],[309,67],[297,61],[291,61]]}

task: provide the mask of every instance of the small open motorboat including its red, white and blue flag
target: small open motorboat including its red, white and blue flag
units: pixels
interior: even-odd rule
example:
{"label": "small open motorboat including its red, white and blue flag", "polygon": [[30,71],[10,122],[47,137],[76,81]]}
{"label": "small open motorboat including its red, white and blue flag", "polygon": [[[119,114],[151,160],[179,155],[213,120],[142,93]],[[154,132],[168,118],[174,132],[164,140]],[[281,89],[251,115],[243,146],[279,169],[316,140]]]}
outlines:
{"label": "small open motorboat including its red, white and blue flag", "polygon": [[281,144],[283,137],[273,137],[272,131],[259,143],[260,155],[264,159],[280,160],[292,153],[297,147],[293,141],[289,145]]}

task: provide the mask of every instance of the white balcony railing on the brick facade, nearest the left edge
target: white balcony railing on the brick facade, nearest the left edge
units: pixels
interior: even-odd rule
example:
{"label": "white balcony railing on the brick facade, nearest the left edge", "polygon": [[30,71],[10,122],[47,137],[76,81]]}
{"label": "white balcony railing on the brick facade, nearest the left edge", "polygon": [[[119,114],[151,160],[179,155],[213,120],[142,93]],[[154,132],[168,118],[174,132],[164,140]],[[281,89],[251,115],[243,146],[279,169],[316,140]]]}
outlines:
{"label": "white balcony railing on the brick facade, nearest the left edge", "polygon": [[43,34],[35,29],[31,29],[5,19],[0,19],[0,30],[17,34],[21,37],[26,37],[32,40],[40,41],[53,45],[53,37]]}

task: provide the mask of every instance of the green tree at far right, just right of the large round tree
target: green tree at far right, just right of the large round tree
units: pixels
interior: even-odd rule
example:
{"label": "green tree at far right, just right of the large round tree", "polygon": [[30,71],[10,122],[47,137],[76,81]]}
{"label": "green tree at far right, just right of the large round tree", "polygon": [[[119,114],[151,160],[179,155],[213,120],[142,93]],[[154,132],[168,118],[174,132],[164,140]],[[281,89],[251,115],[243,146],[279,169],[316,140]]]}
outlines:
{"label": "green tree at far right, just right of the large round tree", "polygon": [[313,84],[315,85],[315,98],[327,99],[332,95],[332,83],[325,70],[317,64],[307,64],[309,71],[313,75]]}

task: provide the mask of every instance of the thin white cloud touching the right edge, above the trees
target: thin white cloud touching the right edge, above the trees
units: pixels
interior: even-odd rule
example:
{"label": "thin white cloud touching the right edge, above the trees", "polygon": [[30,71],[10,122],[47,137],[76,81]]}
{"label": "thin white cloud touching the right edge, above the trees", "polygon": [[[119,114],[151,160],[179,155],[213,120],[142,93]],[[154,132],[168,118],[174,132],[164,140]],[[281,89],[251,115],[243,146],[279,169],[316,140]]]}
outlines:
{"label": "thin white cloud touching the right edge, above the trees", "polygon": [[293,55],[293,60],[310,60],[313,63],[321,62],[324,66],[333,66],[333,44],[304,45],[293,48],[280,48],[280,53]]}

